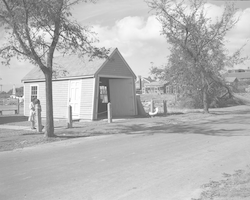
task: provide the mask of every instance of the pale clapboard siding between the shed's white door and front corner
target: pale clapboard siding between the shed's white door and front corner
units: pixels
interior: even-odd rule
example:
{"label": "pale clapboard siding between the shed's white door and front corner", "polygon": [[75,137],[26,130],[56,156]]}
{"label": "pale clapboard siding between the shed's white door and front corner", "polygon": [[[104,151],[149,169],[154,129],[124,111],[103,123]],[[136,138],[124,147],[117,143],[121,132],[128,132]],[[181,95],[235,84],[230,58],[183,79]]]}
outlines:
{"label": "pale clapboard siding between the shed's white door and front corner", "polygon": [[93,120],[94,85],[94,78],[82,80],[80,119]]}

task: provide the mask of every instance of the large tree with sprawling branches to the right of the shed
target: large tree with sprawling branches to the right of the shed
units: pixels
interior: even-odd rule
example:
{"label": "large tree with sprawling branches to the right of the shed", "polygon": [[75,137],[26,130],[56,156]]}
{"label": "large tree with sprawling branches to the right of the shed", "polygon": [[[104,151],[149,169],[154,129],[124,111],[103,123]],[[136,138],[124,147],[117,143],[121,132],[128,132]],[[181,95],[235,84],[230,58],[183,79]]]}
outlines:
{"label": "large tree with sprawling branches to the right of the shed", "polygon": [[226,4],[214,21],[207,17],[203,0],[146,2],[156,12],[161,34],[171,46],[165,73],[172,82],[201,93],[204,112],[209,112],[215,88],[225,87],[230,92],[219,72],[229,63],[241,61],[240,50],[229,56],[225,49],[225,36],[238,21],[234,5]]}

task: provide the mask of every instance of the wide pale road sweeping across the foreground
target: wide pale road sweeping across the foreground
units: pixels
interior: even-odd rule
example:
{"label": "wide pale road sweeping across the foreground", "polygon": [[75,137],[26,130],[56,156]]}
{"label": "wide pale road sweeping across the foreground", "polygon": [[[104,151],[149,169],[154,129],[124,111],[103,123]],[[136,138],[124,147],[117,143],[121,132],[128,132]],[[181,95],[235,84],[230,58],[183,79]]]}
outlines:
{"label": "wide pale road sweeping across the foreground", "polygon": [[247,117],[241,110],[180,126],[152,119],[129,134],[1,152],[0,199],[190,200],[250,164]]}

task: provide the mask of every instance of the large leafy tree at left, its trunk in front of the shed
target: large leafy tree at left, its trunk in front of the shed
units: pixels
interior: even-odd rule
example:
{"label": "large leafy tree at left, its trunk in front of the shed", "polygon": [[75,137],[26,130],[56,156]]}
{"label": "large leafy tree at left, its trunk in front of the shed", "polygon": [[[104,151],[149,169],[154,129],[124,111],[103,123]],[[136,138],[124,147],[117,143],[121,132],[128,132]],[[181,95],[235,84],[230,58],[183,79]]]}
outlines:
{"label": "large leafy tree at left, its trunk in front of the shed", "polygon": [[6,64],[12,57],[29,60],[41,69],[46,84],[46,131],[54,136],[52,74],[53,57],[60,54],[88,54],[104,57],[107,50],[96,48],[95,34],[72,17],[70,8],[94,0],[0,0],[0,28],[6,43],[0,55]]}

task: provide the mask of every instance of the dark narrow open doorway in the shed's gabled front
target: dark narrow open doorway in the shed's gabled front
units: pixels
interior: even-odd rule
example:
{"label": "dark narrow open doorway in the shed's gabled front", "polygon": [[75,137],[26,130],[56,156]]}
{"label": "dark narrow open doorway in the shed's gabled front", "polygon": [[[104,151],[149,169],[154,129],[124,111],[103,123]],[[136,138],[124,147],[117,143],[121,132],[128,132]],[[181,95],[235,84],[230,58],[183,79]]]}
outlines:
{"label": "dark narrow open doorway in the shed's gabled front", "polygon": [[107,104],[109,102],[109,79],[100,78],[98,95],[98,113],[97,118],[107,117]]}

